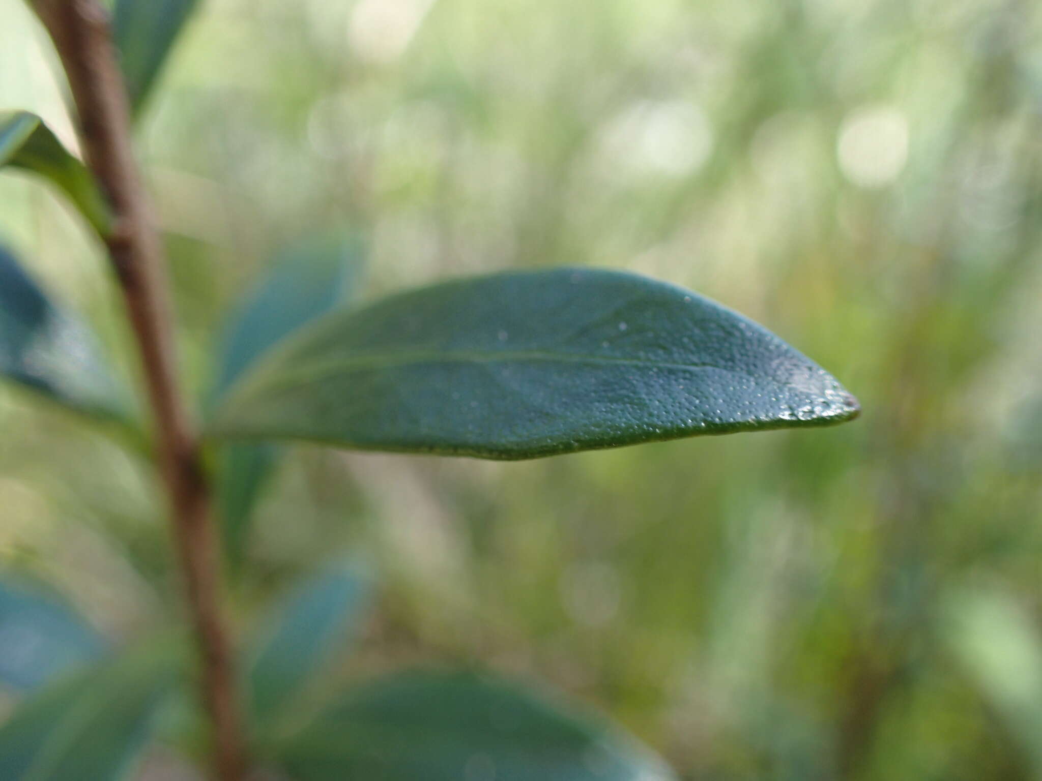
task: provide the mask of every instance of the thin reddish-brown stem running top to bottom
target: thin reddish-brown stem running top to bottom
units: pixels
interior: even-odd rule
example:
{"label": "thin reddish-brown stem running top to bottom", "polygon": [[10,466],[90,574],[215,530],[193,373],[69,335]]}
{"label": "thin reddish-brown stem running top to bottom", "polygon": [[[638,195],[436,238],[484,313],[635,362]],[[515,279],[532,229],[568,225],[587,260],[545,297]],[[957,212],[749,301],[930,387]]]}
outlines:
{"label": "thin reddish-brown stem running top to bottom", "polygon": [[201,660],[202,700],[213,723],[221,781],[241,781],[245,752],[231,644],[221,609],[221,556],[198,434],[178,387],[169,285],[131,141],[126,91],[107,14],[97,0],[31,0],[54,41],[79,114],[88,166],[110,201],[104,236],[137,337],[156,428],[189,609]]}

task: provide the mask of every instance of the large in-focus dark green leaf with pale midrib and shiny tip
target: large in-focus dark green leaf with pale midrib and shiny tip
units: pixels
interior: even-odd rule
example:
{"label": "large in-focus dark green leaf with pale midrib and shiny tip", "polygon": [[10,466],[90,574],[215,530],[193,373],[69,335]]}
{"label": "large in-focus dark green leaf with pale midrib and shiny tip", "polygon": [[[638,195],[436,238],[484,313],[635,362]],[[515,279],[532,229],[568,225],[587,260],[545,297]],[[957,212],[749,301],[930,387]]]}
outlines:
{"label": "large in-focus dark green leaf with pale midrib and shiny tip", "polygon": [[632,274],[560,269],[329,316],[238,383],[210,433],[531,458],[858,411],[820,367],[719,304]]}

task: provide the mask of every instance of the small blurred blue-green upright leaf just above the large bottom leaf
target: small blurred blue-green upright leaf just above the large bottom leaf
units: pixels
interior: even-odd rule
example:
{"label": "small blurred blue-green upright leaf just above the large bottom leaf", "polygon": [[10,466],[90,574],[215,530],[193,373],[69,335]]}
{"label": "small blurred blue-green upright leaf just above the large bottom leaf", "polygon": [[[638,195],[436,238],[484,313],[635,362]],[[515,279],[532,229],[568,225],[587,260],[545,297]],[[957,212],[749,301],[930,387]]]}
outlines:
{"label": "small blurred blue-green upright leaf just above the large bottom leaf", "polygon": [[295,588],[268,616],[249,666],[253,713],[277,715],[357,631],[369,600],[369,577],[341,562]]}

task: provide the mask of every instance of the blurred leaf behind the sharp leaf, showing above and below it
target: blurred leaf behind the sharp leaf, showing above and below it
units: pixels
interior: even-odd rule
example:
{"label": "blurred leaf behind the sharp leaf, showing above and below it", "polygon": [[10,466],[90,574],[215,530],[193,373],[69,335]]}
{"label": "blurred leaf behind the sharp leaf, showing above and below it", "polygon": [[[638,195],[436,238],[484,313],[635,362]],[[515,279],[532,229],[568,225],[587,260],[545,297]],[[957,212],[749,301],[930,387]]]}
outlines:
{"label": "blurred leaf behind the sharp leaf, showing above and below it", "polygon": [[[357,242],[342,237],[308,240],[282,252],[228,323],[214,396],[272,345],[349,298],[359,266]],[[219,501],[232,562],[242,558],[253,507],[279,458],[273,445],[231,445],[225,452]]]}

